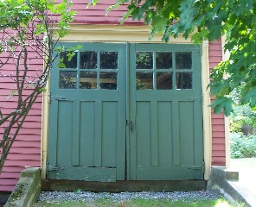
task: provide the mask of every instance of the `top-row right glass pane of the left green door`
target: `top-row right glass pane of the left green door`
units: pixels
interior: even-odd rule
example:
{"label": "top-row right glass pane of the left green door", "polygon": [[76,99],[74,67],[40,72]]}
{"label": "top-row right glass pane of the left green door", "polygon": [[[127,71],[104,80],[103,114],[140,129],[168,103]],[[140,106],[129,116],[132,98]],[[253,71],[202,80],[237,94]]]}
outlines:
{"label": "top-row right glass pane of the left green door", "polygon": [[118,52],[101,52],[100,68],[118,69]]}

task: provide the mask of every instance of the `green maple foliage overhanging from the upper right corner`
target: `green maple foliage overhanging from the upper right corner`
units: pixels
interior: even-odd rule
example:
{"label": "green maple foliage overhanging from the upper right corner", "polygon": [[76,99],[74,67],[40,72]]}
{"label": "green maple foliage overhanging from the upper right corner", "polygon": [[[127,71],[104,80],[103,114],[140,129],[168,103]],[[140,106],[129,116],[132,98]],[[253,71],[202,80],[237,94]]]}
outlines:
{"label": "green maple foliage overhanging from the upper right corner", "polygon": [[[98,0],[92,0],[95,4]],[[192,41],[220,40],[226,34],[224,50],[230,53],[211,73],[211,94],[216,97],[215,113],[232,111],[231,91],[240,87],[241,102],[256,109],[256,2],[254,0],[119,0],[109,9],[129,3],[122,22],[132,19],[150,25],[151,36],[192,34]],[[196,30],[196,31],[195,31]],[[223,78],[225,75],[226,78]]]}

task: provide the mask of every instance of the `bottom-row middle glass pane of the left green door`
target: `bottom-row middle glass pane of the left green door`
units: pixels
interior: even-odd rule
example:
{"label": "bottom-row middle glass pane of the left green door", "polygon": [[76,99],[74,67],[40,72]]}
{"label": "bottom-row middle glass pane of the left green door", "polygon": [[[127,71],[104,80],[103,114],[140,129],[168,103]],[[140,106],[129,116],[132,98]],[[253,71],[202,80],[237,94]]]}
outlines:
{"label": "bottom-row middle glass pane of the left green door", "polygon": [[80,88],[96,89],[97,88],[97,72],[80,72]]}

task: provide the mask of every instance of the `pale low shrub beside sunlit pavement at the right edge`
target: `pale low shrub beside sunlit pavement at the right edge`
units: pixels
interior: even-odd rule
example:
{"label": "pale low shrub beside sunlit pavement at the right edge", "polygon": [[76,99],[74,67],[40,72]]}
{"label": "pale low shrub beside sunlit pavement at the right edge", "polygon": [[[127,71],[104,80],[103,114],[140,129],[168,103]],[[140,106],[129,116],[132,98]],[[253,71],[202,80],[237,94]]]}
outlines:
{"label": "pale low shrub beside sunlit pavement at the right edge", "polygon": [[256,157],[256,135],[230,134],[230,149],[232,158]]}

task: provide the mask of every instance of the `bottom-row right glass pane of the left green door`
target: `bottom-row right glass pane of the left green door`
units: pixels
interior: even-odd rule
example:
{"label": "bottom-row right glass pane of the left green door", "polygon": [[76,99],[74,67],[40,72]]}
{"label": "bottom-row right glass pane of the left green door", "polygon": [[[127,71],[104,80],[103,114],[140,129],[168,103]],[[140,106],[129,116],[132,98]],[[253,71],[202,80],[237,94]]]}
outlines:
{"label": "bottom-row right glass pane of the left green door", "polygon": [[101,89],[117,89],[118,72],[99,72],[99,87]]}

